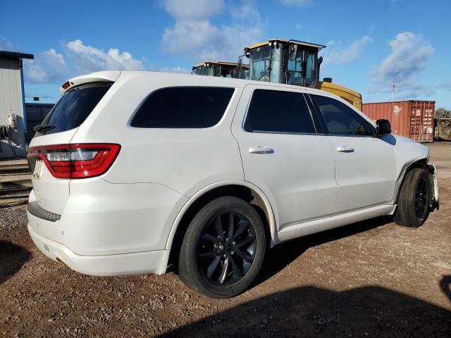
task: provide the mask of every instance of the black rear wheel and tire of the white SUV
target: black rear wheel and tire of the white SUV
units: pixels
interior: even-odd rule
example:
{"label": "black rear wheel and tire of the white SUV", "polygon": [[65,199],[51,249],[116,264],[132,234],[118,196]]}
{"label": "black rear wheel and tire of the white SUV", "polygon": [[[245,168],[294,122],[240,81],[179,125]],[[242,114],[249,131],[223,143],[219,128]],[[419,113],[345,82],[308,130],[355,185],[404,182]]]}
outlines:
{"label": "black rear wheel and tire of the white SUV", "polygon": [[257,277],[265,249],[259,213],[242,199],[220,197],[194,216],[185,233],[180,280],[206,296],[236,296]]}

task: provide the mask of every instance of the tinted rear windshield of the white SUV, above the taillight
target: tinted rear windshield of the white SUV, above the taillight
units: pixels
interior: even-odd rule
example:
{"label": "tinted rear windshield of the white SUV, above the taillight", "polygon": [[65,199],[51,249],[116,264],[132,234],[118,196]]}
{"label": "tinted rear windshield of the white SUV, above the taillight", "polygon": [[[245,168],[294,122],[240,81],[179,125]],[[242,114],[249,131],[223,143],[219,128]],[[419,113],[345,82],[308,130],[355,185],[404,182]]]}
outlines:
{"label": "tinted rear windshield of the white SUV, above the taillight", "polygon": [[110,82],[84,84],[64,94],[42,121],[51,127],[36,133],[54,134],[79,127],[111,87]]}

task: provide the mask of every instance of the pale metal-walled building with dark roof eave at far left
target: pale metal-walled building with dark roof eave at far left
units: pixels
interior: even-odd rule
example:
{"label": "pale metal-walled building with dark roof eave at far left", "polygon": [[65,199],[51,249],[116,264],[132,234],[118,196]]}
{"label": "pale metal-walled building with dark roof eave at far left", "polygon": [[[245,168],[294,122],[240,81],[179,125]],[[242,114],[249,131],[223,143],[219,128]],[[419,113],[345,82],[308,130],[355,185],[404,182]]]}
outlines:
{"label": "pale metal-walled building with dark roof eave at far left", "polygon": [[23,58],[34,56],[0,51],[0,158],[26,155],[27,123],[23,91]]}

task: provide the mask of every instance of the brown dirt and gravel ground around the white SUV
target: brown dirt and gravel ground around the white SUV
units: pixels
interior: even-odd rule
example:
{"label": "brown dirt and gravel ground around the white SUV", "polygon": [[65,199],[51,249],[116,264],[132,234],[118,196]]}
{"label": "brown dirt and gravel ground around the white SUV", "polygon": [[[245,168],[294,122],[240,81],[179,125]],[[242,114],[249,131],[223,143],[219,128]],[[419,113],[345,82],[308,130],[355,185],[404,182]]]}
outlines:
{"label": "brown dirt and gravel ground around the white SUV", "polygon": [[449,338],[451,142],[429,147],[440,211],[423,227],[379,218],[281,244],[254,286],[228,300],[174,273],[75,273],[37,251],[25,204],[0,206],[0,336]]}

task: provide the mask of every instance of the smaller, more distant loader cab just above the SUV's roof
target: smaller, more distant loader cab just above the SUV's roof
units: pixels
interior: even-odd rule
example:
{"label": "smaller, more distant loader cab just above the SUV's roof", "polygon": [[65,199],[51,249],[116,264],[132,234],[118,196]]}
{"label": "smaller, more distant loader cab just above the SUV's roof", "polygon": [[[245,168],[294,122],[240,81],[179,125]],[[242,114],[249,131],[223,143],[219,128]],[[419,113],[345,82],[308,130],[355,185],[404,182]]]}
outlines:
{"label": "smaller, more distant loader cab just above the SUV's roof", "polygon": [[230,77],[233,79],[249,79],[249,65],[237,63],[204,61],[192,66],[192,74],[216,77]]}

